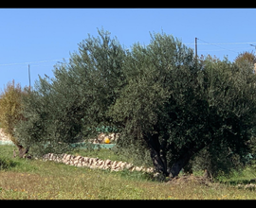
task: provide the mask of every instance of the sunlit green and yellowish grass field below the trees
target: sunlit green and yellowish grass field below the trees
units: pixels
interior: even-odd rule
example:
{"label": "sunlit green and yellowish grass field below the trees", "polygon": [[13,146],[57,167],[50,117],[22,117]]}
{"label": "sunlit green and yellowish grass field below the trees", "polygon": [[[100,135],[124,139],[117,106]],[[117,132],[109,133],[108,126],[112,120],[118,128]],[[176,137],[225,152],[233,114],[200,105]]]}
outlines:
{"label": "sunlit green and yellowish grass field below the trees", "polygon": [[[0,146],[0,199],[256,199],[255,190],[235,187],[256,178],[253,167],[211,185],[170,183],[152,181],[140,172],[12,158],[12,150],[13,146]],[[90,154],[102,159],[117,157],[106,149]]]}

